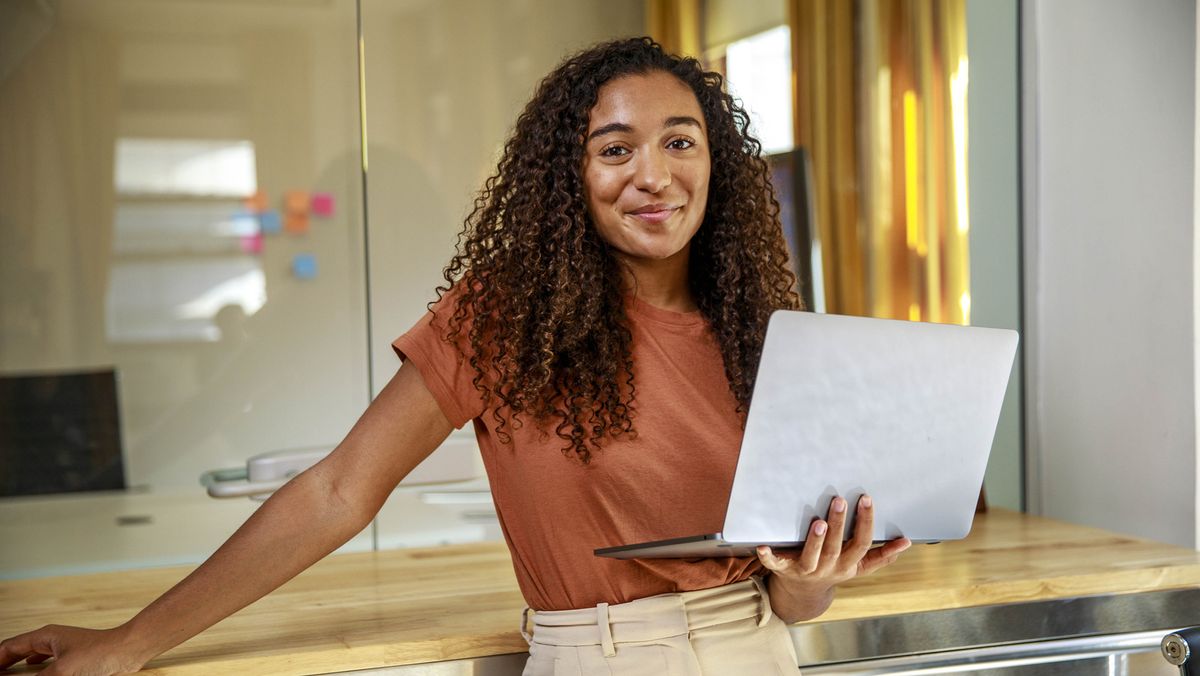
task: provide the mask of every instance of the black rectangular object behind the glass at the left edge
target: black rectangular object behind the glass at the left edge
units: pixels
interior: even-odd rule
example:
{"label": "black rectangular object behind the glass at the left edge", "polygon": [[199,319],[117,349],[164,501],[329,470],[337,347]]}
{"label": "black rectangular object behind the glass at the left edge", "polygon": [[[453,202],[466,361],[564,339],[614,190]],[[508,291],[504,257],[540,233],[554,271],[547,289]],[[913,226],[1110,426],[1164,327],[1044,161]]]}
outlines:
{"label": "black rectangular object behind the glass at the left edge", "polygon": [[125,487],[114,371],[0,376],[0,496]]}

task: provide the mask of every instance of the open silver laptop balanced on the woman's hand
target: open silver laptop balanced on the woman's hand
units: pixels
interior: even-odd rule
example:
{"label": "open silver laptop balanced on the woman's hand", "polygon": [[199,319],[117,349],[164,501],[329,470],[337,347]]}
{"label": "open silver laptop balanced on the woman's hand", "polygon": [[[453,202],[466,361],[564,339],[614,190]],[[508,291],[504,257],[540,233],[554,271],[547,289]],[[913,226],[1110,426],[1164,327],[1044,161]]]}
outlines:
{"label": "open silver laptop balanced on the woman's hand", "polygon": [[875,502],[875,542],[966,537],[1016,331],[778,311],[767,328],[720,533],[595,550],[613,558],[796,548],[834,496]]}

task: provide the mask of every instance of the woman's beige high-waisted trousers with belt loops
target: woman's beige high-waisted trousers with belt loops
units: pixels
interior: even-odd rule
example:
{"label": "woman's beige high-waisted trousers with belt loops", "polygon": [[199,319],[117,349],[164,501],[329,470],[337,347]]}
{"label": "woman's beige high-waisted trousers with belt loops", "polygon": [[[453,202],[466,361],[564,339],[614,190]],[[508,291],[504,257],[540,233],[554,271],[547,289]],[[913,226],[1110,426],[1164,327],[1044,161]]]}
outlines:
{"label": "woman's beige high-waisted trousers with belt loops", "polygon": [[799,674],[787,626],[764,585],[744,582],[580,610],[528,614],[523,676]]}

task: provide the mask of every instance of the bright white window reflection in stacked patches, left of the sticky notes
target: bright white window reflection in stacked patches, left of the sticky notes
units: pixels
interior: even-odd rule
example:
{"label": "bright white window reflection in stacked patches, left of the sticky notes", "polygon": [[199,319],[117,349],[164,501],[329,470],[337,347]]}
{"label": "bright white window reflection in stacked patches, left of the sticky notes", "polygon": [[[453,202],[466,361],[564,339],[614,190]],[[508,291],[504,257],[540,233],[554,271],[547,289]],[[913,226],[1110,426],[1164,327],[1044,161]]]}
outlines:
{"label": "bright white window reflection in stacked patches, left of the sticky notes", "polygon": [[119,138],[114,175],[109,341],[215,342],[263,307],[251,140]]}

